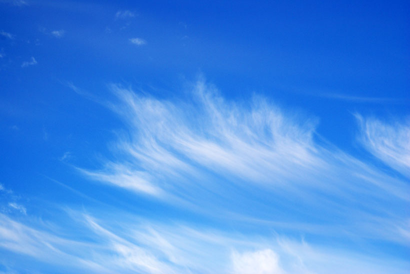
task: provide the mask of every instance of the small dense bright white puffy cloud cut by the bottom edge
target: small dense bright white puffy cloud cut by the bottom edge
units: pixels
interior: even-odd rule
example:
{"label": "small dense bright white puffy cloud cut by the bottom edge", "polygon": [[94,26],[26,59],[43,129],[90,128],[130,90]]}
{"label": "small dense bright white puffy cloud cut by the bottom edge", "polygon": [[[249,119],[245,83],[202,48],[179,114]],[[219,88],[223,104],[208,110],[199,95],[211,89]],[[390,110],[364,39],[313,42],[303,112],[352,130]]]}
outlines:
{"label": "small dense bright white puffy cloud cut by the bottom edge", "polygon": [[234,274],[283,274],[279,259],[270,249],[231,255]]}

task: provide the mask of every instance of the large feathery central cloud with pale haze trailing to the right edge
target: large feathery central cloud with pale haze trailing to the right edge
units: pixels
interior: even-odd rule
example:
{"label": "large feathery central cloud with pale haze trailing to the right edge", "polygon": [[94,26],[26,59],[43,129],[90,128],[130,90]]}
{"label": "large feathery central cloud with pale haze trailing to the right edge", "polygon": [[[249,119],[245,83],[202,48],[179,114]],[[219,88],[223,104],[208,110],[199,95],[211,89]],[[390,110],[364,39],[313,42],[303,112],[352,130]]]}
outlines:
{"label": "large feathery central cloud with pale haze trailing to the right edge", "polygon": [[[79,169],[87,178],[183,203],[200,214],[229,212],[304,233],[331,231],[333,237],[345,230],[409,243],[398,233],[407,230],[401,208],[409,205],[409,186],[316,143],[317,119],[285,112],[260,97],[251,103],[226,101],[202,80],[192,85],[189,104],[119,85],[109,89],[116,100],[103,104],[122,119],[125,132],[118,132],[113,160],[99,170]],[[320,220],[299,224],[312,214]],[[293,227],[281,225],[289,221]],[[333,227],[326,230],[329,224]]]}

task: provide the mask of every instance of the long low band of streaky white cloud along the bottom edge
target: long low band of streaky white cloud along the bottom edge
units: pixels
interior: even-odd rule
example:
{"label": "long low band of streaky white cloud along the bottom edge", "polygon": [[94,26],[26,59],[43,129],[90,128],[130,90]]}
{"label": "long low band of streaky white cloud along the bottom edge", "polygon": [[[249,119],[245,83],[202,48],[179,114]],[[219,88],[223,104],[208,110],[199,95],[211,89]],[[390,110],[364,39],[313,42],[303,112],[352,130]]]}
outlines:
{"label": "long low band of streaky white cloud along the bottom edge", "polygon": [[87,237],[72,240],[74,234],[62,233],[63,228],[54,224],[33,220],[31,225],[38,226],[33,228],[0,214],[0,247],[77,273],[404,274],[410,265],[279,236],[255,237],[148,220],[134,220],[132,225],[106,220],[108,225],[88,214],[70,216],[69,222]]}

